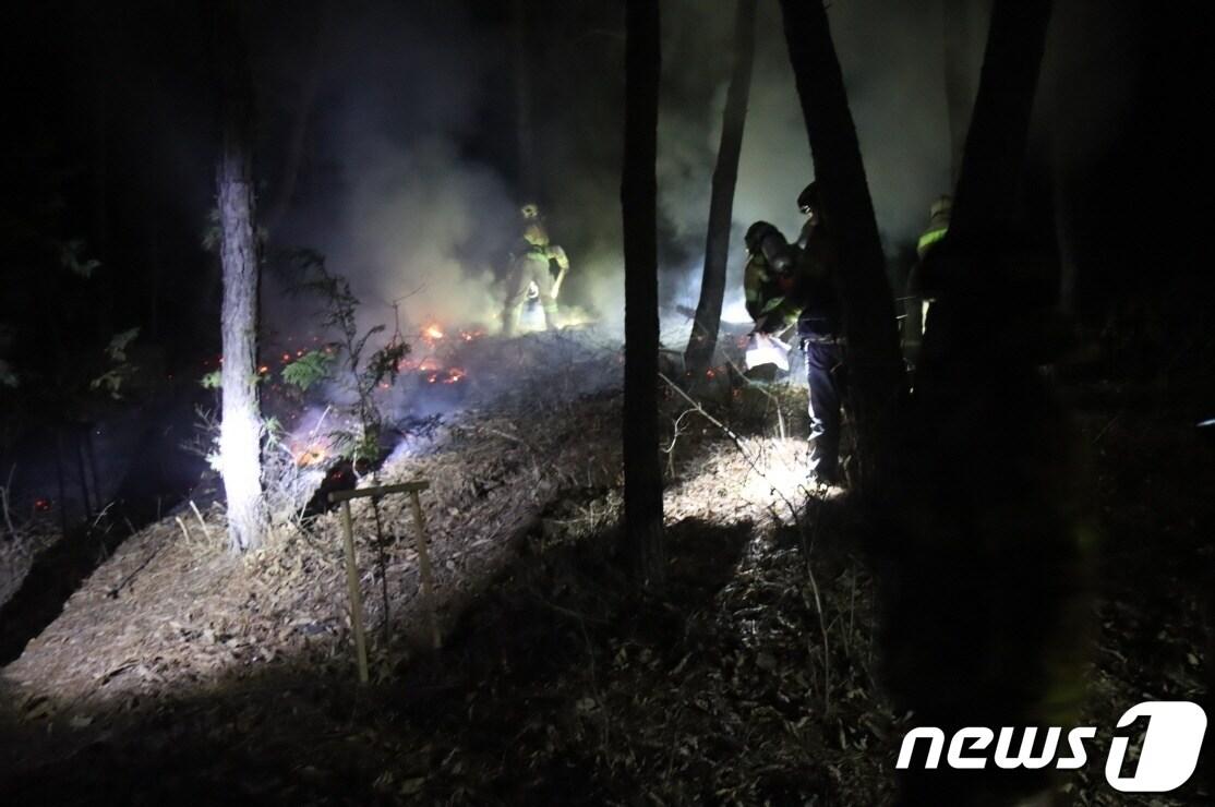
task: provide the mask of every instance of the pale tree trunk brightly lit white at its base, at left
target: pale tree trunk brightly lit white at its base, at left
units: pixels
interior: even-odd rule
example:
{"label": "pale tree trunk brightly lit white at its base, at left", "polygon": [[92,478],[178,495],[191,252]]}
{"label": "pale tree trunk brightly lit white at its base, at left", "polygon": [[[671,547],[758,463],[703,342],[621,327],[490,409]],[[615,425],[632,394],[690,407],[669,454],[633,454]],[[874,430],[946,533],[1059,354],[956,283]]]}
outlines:
{"label": "pale tree trunk brightly lit white at its base, at left", "polygon": [[220,473],[227,497],[228,541],[234,551],[261,542],[261,418],[258,407],[258,244],[253,197],[253,88],[236,0],[220,4],[224,73],[224,141],[216,170],[224,339]]}

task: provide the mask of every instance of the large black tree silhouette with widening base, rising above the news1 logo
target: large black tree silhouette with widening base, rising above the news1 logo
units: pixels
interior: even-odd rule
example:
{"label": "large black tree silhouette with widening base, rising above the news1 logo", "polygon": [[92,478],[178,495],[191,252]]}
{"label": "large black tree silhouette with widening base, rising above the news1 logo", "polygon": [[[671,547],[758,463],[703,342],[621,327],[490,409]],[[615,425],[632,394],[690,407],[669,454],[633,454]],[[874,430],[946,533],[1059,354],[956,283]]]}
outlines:
{"label": "large black tree silhouette with widening base, rising above the news1 logo", "polygon": [[[1038,369],[1041,321],[991,315],[1033,284],[1013,214],[1050,13],[995,4],[953,224],[926,265],[937,303],[881,583],[887,683],[929,726],[1068,726],[1084,692],[1084,451]],[[902,803],[1025,803],[1052,784],[1046,769],[962,774],[909,771]]]}

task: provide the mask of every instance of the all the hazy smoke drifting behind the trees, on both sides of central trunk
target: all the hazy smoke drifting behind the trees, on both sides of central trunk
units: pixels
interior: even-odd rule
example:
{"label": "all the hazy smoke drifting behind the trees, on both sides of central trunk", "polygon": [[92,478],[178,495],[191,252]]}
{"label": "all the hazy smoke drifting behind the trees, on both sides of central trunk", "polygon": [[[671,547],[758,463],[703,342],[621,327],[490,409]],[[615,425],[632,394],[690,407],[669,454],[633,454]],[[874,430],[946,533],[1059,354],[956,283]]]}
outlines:
{"label": "all the hazy smoke drifting behind the trees, on both sides of central trunk", "polygon": [[[471,5],[447,4],[443,13],[420,5],[368,1],[356,15],[335,16],[313,115],[311,182],[284,237],[324,252],[367,304],[369,322],[391,326],[391,303],[401,300],[414,327],[440,321],[493,329],[522,184],[514,171],[510,21],[474,13]],[[563,290],[566,314],[618,333],[622,15],[610,2],[589,4],[582,15],[577,26],[560,11],[529,18],[542,47],[531,52],[538,165],[526,180],[573,263]],[[943,10],[939,0],[841,0],[829,16],[878,230],[898,263],[932,201],[950,191]],[[733,27],[733,4],[663,4],[665,325],[686,325],[673,312],[699,295]],[[981,52],[982,41],[974,45]],[[763,2],[734,201],[728,320],[742,318],[742,233],[762,219],[795,236],[802,224],[796,197],[813,174],[779,6]]]}

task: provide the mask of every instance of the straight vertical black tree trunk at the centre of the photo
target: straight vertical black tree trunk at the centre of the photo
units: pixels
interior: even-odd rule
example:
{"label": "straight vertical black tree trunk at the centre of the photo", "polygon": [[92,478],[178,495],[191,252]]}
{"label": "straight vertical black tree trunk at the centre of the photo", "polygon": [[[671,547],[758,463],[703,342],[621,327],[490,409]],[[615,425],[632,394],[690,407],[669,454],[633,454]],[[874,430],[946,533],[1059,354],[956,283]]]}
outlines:
{"label": "straight vertical black tree trunk at the centre of the photo", "polygon": [[625,534],[643,588],[666,582],[659,458],[659,4],[628,0],[625,62]]}

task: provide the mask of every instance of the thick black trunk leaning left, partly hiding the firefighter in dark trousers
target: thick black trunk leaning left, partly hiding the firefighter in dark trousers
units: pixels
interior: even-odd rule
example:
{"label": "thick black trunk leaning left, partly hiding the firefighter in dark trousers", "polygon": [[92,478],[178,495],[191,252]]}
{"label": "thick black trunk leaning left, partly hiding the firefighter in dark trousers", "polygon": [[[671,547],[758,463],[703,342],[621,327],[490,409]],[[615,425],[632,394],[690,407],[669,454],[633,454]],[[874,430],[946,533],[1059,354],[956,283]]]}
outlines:
{"label": "thick black trunk leaning left, partly hiding the firefighter in dark trousers", "polygon": [[826,10],[821,0],[781,0],[780,7],[823,198],[823,222],[835,241],[858,489],[863,501],[871,501],[885,476],[905,388],[894,298]]}

